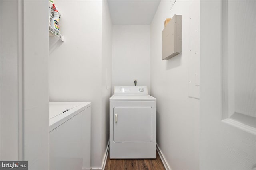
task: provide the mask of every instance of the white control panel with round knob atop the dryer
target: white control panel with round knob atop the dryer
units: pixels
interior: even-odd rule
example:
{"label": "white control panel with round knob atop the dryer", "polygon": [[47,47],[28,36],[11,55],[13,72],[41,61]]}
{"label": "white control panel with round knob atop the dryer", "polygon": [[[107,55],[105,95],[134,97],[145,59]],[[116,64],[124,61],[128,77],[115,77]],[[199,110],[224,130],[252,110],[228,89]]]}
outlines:
{"label": "white control panel with round knob atop the dryer", "polygon": [[114,86],[114,94],[148,94],[147,86]]}

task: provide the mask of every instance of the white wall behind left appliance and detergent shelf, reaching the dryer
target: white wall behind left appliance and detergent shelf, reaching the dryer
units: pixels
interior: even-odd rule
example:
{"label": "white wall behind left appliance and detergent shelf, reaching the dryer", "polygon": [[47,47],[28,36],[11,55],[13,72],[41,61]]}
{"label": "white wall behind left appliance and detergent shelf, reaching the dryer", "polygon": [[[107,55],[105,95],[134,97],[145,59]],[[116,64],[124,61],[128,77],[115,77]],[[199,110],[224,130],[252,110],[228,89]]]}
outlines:
{"label": "white wall behind left appliance and detergent shelf, reaching the dryer", "polygon": [[50,101],[92,102],[91,166],[99,168],[108,142],[111,21],[104,1],[54,2],[62,15],[60,32],[65,40],[50,37]]}

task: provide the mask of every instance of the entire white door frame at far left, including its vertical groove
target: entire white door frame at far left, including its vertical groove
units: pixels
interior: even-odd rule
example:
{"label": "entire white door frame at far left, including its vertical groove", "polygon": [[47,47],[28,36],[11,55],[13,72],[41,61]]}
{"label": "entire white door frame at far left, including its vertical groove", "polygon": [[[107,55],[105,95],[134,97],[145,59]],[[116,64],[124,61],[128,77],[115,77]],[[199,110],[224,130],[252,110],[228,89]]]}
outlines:
{"label": "entire white door frame at far left, including its vertical groove", "polygon": [[49,168],[49,35],[45,17],[48,2],[0,3],[0,159],[28,160],[28,169],[46,170]]}

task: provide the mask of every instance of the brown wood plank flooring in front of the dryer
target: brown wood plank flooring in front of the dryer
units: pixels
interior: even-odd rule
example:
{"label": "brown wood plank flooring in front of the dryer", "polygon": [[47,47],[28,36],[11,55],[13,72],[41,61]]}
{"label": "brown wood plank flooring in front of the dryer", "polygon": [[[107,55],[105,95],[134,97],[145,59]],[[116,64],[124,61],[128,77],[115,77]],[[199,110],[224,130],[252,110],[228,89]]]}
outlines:
{"label": "brown wood plank flooring in front of the dryer", "polygon": [[108,159],[105,170],[164,170],[164,164],[156,151],[156,159]]}

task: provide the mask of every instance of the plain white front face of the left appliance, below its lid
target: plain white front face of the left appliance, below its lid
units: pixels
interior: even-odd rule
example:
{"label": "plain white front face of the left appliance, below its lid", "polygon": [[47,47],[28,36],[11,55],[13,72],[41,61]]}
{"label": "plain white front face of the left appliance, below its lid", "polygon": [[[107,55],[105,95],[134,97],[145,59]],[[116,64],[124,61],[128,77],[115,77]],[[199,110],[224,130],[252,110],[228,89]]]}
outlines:
{"label": "plain white front face of the left appliance, below its lid", "polygon": [[50,170],[90,169],[90,107],[50,131]]}

